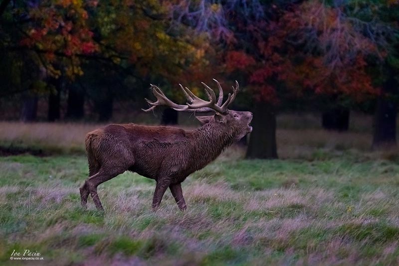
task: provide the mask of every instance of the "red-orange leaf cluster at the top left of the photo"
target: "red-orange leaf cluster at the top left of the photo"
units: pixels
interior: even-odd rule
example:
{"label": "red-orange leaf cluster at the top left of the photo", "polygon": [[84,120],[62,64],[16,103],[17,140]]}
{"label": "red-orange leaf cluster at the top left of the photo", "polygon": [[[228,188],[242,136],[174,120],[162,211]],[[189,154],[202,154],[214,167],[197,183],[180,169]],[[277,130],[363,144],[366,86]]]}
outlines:
{"label": "red-orange leaf cluster at the top left of the photo", "polygon": [[82,75],[81,56],[99,51],[94,33],[89,27],[87,8],[95,7],[94,1],[44,0],[27,9],[28,23],[22,24],[19,44],[37,52],[41,64],[49,75],[61,75],[57,56],[64,60],[67,76]]}

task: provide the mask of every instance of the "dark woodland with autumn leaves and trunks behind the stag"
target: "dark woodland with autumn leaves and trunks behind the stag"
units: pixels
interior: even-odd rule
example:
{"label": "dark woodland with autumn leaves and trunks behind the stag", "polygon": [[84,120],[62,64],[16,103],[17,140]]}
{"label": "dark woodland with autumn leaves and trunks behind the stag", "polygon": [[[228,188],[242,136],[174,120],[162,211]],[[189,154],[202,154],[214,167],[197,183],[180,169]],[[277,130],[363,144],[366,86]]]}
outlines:
{"label": "dark woodland with autumn leaves and trunks behind the stag", "polygon": [[141,113],[149,84],[183,103],[178,83],[204,97],[216,78],[254,113],[247,158],[278,157],[282,113],[335,131],[372,115],[372,147],[392,149],[398,15],[396,0],[2,0],[0,119],[178,124]]}

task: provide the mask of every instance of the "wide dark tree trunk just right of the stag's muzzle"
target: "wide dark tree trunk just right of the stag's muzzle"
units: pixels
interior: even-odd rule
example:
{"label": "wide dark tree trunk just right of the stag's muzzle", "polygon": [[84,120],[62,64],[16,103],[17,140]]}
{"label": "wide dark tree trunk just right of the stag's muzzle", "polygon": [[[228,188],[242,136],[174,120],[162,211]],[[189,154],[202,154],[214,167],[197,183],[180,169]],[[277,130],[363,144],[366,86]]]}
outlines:
{"label": "wide dark tree trunk just right of the stag's muzzle", "polygon": [[266,103],[256,103],[253,111],[253,130],[249,137],[246,158],[277,159],[276,113]]}

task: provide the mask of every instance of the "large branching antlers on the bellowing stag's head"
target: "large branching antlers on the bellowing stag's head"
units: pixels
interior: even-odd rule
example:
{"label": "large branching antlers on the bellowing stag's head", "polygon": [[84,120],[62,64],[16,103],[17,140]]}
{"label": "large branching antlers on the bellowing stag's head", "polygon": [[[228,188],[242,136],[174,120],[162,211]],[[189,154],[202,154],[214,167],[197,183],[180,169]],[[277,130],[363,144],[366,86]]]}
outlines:
{"label": "large branching antlers on the bellowing stag's head", "polygon": [[165,94],[162,92],[162,90],[151,84],[151,89],[153,91],[153,94],[155,97],[157,97],[156,102],[151,102],[150,100],[146,99],[146,101],[151,105],[150,108],[144,110],[145,112],[149,112],[153,110],[157,106],[168,106],[176,111],[186,111],[186,112],[210,112],[210,111],[216,111],[218,113],[226,113],[227,112],[227,107],[234,101],[236,94],[238,93],[239,86],[238,82],[235,81],[235,88],[233,87],[233,94],[231,93],[228,94],[227,100],[223,102],[223,89],[221,88],[220,83],[216,80],[213,79],[217,83],[217,87],[219,89],[219,97],[216,101],[216,95],[214,91],[209,88],[205,83],[201,82],[202,85],[205,87],[205,93],[209,98],[209,101],[202,100],[201,98],[197,97],[189,88],[183,87],[181,84],[179,84],[180,88],[183,90],[183,93],[185,94],[187,100],[186,105],[181,105],[181,104],[176,104],[172,102],[170,99],[168,99]]}

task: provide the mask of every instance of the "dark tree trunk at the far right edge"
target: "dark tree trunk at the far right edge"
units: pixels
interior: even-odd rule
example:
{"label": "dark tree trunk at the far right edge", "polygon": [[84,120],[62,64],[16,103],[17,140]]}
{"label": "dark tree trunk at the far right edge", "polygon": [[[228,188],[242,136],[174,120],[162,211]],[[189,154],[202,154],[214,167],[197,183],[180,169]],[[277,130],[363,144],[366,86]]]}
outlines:
{"label": "dark tree trunk at the far right edge", "polygon": [[[396,119],[398,103],[390,97],[398,89],[398,82],[391,78],[383,86],[383,93],[377,100],[374,116],[373,148],[391,149],[396,147]],[[384,95],[387,93],[388,95]]]}

